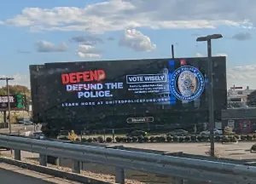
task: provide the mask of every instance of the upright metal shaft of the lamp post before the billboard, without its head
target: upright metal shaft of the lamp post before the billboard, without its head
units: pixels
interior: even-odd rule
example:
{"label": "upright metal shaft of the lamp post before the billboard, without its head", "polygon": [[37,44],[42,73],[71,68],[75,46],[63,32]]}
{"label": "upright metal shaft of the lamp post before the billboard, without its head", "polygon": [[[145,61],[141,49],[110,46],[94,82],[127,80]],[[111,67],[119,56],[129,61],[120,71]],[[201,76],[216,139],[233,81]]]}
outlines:
{"label": "upright metal shaft of the lamp post before the billboard, without its head", "polygon": [[210,124],[210,141],[211,141],[211,156],[215,156],[214,152],[214,104],[213,104],[213,81],[212,81],[212,42],[207,40],[208,53],[208,83],[209,83],[209,124]]}

